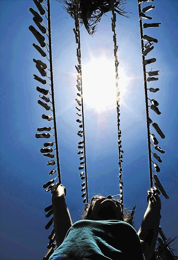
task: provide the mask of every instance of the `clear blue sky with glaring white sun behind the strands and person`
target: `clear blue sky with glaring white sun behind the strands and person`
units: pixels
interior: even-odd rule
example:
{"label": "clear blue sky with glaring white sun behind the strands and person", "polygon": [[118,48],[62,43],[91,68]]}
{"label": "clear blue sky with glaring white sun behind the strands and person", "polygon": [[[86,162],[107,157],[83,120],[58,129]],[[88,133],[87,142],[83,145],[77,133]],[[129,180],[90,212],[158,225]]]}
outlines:
{"label": "clear blue sky with glaring white sun behind the strands and person", "polygon": [[[36,139],[38,127],[53,126],[42,119],[50,114],[37,104],[36,87],[46,87],[33,79],[40,76],[33,58],[47,62],[32,43],[37,40],[29,31],[35,24],[29,8],[38,11],[32,0],[1,0],[1,253],[2,260],[39,260],[47,251],[49,230],[44,208],[51,204],[51,193],[43,184],[51,179],[53,167],[40,153],[46,139]],[[159,70],[159,80],[148,83],[160,88],[149,92],[159,102],[161,115],[150,111],[166,138],[162,140],[152,127],[162,163],[158,177],[169,200],[162,195],[161,226],[167,237],[177,235],[177,5],[174,0],[155,0],[155,9],[147,14],[159,28],[144,29],[144,34],[157,38],[154,50],[146,58],[157,61],[147,71]],[[150,188],[145,93],[141,44],[136,0],[128,0],[129,18],[117,15],[117,43],[121,86],[121,131],[124,150],[124,205],[136,204],[135,225],[141,224],[147,208]],[[47,24],[45,18],[45,23]],[[62,184],[67,189],[66,202],[73,222],[83,210],[76,122],[76,43],[74,20],[56,0],[51,0],[52,51],[56,118]],[[38,44],[39,45],[39,44]],[[89,198],[119,193],[117,114],[114,86],[113,32],[111,12],[103,15],[98,31],[89,36],[81,28],[84,115]],[[111,81],[108,81],[109,78]],[[106,82],[106,84],[105,84]],[[111,96],[111,98],[110,98]],[[52,141],[52,137],[50,140]],[[153,151],[154,148],[153,148]],[[56,176],[56,175],[54,175]],[[175,246],[176,247],[176,246]]]}

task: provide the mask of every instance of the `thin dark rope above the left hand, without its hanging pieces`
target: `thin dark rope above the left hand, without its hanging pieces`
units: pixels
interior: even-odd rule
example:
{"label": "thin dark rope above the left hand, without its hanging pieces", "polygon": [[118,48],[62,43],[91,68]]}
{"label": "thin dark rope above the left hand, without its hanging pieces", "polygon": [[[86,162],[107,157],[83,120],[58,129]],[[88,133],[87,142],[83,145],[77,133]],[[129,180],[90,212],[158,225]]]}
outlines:
{"label": "thin dark rope above the left hand, without its hanging pieces", "polygon": [[53,66],[52,66],[52,48],[51,48],[51,16],[50,16],[50,0],[48,0],[48,30],[49,30],[49,57],[50,57],[50,74],[51,74],[51,96],[53,104],[53,119],[54,119],[54,133],[55,133],[55,144],[56,144],[56,160],[59,183],[61,183],[60,164],[59,164],[59,152],[58,152],[58,141],[57,141],[57,127],[56,127],[56,114],[55,114],[55,103],[54,103],[54,84],[53,84]]}

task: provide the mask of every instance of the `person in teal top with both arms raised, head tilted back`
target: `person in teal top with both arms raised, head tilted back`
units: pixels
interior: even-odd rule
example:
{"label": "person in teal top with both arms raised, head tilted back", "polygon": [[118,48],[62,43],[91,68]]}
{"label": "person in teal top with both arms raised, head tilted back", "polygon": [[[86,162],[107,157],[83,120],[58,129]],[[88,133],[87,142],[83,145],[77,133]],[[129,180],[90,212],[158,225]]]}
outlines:
{"label": "person in teal top with both arms raised, head tilted back", "polygon": [[65,203],[66,189],[60,184],[52,194],[57,249],[49,260],[149,260],[152,258],[160,223],[160,191],[147,192],[148,208],[140,229],[131,225],[131,213],[112,196],[94,196],[82,220],[73,224]]}

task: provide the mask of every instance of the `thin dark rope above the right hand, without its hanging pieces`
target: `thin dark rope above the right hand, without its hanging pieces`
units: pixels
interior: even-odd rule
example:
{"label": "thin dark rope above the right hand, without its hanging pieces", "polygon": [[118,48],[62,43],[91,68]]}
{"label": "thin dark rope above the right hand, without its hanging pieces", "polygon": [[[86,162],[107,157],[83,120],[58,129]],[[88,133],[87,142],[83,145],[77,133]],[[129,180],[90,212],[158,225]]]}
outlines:
{"label": "thin dark rope above the right hand, without its hanging pieces", "polygon": [[[138,0],[138,13],[141,12],[141,5]],[[141,50],[144,49],[144,40],[143,40],[143,27],[141,18],[139,18],[139,27],[140,27],[140,39],[141,39]],[[143,72],[144,72],[144,87],[145,87],[145,105],[146,105],[146,115],[147,115],[147,136],[148,136],[148,153],[149,153],[149,169],[150,169],[150,187],[153,186],[153,177],[152,177],[152,153],[151,153],[151,142],[150,142],[150,123],[149,123],[149,108],[148,108],[148,93],[147,93],[147,77],[146,77],[146,65],[144,65],[145,56],[142,55],[143,61]]]}

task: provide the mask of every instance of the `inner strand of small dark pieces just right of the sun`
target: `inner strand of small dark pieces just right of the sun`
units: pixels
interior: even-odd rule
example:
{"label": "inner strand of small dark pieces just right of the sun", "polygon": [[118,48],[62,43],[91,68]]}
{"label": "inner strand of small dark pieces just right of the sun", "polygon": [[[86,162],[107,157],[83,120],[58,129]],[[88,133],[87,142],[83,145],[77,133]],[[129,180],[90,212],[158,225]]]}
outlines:
{"label": "inner strand of small dark pieces just right of the sun", "polygon": [[121,168],[121,158],[122,158],[122,154],[121,154],[121,151],[123,152],[123,150],[121,150],[120,148],[122,147],[121,146],[121,140],[120,140],[120,137],[121,137],[121,131],[120,131],[120,119],[119,119],[119,116],[120,116],[120,105],[119,105],[119,87],[118,87],[118,80],[119,80],[119,77],[118,77],[118,66],[119,66],[119,62],[118,62],[118,57],[117,57],[117,50],[118,50],[118,46],[117,46],[117,40],[116,40],[116,30],[115,30],[115,27],[116,27],[116,13],[115,13],[115,7],[114,7],[114,0],[111,0],[111,10],[112,10],[112,15],[113,17],[111,18],[112,20],[112,31],[113,31],[113,41],[114,41],[114,57],[115,57],[115,70],[116,70],[116,90],[117,90],[117,101],[116,101],[116,104],[117,104],[117,125],[118,125],[118,154],[119,154],[119,186],[120,186],[120,202],[121,204],[123,204],[123,190],[122,190],[122,187],[124,186],[123,184],[123,181],[122,181],[122,168]]}

